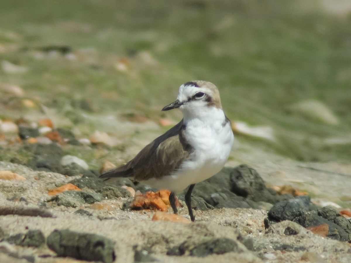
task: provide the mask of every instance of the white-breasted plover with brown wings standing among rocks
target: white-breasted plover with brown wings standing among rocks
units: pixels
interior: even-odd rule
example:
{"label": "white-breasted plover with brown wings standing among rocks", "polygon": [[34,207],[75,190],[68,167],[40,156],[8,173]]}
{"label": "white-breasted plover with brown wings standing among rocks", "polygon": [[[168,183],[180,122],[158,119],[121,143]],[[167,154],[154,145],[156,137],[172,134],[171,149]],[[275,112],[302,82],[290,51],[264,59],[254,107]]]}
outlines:
{"label": "white-breasted plover with brown wings standing among rocks", "polygon": [[191,193],[196,183],[218,173],[228,160],[234,135],[225,116],[218,89],[211,82],[191,81],[179,88],[177,100],[162,110],[179,108],[183,119],[144,147],[131,161],[100,178],[133,177],[157,189],[171,191],[169,201],[177,214],[175,193],[185,194],[191,221]]}

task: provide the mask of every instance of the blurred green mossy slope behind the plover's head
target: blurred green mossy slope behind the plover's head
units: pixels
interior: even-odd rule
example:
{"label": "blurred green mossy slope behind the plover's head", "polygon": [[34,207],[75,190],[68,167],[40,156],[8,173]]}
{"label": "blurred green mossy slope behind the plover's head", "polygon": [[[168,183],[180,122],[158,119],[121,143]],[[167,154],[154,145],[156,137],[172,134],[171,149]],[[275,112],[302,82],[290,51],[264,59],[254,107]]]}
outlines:
{"label": "blurred green mossy slope behind the plover's head", "polygon": [[350,160],[348,1],[1,0],[0,60],[0,82],[61,112],[86,100],[93,113],[164,117],[182,83],[211,81],[232,121],[276,138],[240,142]]}

